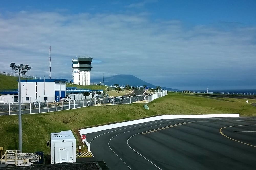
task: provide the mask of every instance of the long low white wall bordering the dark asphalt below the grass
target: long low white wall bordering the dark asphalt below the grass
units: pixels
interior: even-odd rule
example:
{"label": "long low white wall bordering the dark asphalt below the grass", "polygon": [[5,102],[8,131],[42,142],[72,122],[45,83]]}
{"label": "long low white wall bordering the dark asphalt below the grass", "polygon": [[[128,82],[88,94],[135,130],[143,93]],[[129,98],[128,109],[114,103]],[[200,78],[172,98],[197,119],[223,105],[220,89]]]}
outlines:
{"label": "long low white wall bordering the dark asphalt below the grass", "polygon": [[78,131],[79,131],[80,135],[82,136],[83,134],[98,132],[101,130],[108,130],[108,129],[113,129],[113,128],[117,128],[117,127],[129,126],[129,125],[145,123],[145,122],[161,120],[161,119],[215,118],[215,117],[239,117],[239,114],[163,115],[163,116],[149,117],[149,118],[145,118],[145,119],[115,123],[115,124],[110,124],[110,125],[91,127],[91,128],[87,128],[87,129],[81,129]]}

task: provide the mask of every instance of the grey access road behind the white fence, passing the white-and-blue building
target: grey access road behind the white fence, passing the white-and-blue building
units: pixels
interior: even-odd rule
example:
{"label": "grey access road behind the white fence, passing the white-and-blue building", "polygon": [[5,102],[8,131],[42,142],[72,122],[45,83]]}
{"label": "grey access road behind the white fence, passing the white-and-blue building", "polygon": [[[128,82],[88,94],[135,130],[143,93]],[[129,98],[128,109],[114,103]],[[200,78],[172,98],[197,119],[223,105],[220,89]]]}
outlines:
{"label": "grey access road behind the white fence, passing the white-and-blue building", "polygon": [[[134,95],[141,95],[143,94],[144,90],[138,90],[138,89],[133,89],[134,90],[134,93],[130,94],[132,97],[131,97],[131,103],[133,102],[136,102],[136,101],[140,101],[140,100],[143,100],[144,96],[134,96]],[[124,95],[124,96],[128,96],[129,95]],[[104,102],[104,98],[100,98],[100,99],[96,99],[96,103],[97,104],[109,104],[107,103],[107,98],[106,98],[106,101]],[[123,104],[128,104],[130,103],[130,98],[128,98],[127,100],[123,100]],[[113,103],[111,103],[113,104]],[[114,101],[114,104],[122,104],[122,101],[119,101],[119,102],[115,102]],[[73,109],[73,108],[78,108],[78,107],[82,107],[82,106],[94,106],[95,105],[95,99],[92,99],[92,100],[88,100],[88,102],[86,103],[86,100],[82,101],[80,100],[79,101],[79,104],[78,104],[78,100],[76,100],[75,102],[70,102],[70,106],[69,106],[69,102],[64,102],[64,108],[62,107],[62,105],[60,105],[60,102],[58,103],[58,105],[55,107],[55,104],[50,104],[49,105],[49,111],[56,111],[56,110],[65,110],[65,109]],[[29,103],[24,103],[22,104],[22,111],[21,113],[22,114],[29,114],[30,113],[30,110],[29,110]],[[8,115],[9,112],[7,111],[7,108],[8,108],[8,104],[0,104],[0,115]],[[3,110],[2,110],[3,109]],[[40,113],[42,112],[47,112],[47,107],[40,107]],[[33,107],[31,105],[31,113],[39,113],[39,108],[38,107]],[[18,111],[18,103],[14,103],[14,104],[10,104],[10,114],[19,114],[19,111]]]}

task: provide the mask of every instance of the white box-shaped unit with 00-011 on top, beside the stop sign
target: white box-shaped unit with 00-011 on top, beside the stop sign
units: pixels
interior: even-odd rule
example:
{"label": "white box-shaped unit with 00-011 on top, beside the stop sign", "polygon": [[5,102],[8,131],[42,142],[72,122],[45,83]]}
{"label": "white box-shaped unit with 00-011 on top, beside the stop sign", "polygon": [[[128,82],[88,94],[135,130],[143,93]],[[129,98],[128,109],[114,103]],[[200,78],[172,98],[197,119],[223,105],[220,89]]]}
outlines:
{"label": "white box-shaped unit with 00-011 on top, beside the stop sign", "polygon": [[76,138],[71,130],[51,133],[51,164],[76,162]]}

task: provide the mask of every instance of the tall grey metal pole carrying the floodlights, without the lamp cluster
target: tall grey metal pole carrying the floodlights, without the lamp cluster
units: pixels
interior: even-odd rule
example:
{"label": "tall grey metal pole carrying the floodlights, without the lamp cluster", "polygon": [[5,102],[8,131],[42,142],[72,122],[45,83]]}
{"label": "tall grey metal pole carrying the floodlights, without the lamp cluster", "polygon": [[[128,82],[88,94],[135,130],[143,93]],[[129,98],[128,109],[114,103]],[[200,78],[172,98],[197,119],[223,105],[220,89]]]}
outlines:
{"label": "tall grey metal pole carrying the floodlights, without the lamp cluster", "polygon": [[20,67],[19,67],[19,150],[22,152],[22,126],[21,126],[21,83],[20,83]]}

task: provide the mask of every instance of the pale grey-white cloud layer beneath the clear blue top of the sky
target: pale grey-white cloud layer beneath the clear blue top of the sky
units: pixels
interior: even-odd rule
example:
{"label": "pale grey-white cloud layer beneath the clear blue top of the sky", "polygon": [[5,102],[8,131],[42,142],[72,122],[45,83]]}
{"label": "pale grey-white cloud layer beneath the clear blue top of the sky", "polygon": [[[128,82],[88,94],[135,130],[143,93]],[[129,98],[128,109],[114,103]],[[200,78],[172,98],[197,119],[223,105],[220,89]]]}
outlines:
{"label": "pale grey-white cloud layer beneath the clear blue top of the sky", "polygon": [[[2,16],[2,17],[1,17]],[[222,27],[219,27],[219,26]],[[220,29],[221,28],[221,29]],[[179,89],[255,88],[256,27],[219,23],[185,27],[140,14],[0,14],[1,71],[29,64],[30,75],[71,79],[71,60],[92,56],[91,79],[132,74]],[[254,79],[254,80],[253,80]]]}

